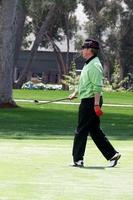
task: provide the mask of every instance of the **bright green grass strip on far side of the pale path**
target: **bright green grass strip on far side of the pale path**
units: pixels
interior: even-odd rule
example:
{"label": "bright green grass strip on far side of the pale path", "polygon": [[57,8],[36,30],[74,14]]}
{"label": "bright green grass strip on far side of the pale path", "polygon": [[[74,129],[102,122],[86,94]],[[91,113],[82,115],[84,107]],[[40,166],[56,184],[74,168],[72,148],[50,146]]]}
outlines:
{"label": "bright green grass strip on far side of the pale path", "polygon": [[[51,90],[14,90],[13,96],[15,99],[37,99],[51,100],[65,98],[70,94],[70,91],[51,91]],[[113,104],[132,104],[133,92],[104,92],[104,103]],[[77,100],[74,100],[78,101]]]}

